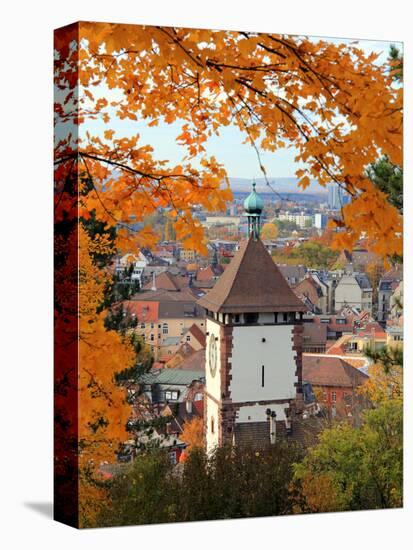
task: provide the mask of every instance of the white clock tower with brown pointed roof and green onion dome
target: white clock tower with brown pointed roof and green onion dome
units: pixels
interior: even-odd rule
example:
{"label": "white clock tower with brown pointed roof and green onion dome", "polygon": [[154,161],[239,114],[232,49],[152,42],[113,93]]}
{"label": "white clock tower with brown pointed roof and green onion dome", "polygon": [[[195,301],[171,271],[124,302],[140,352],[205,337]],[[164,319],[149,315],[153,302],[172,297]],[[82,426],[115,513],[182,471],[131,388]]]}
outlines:
{"label": "white clock tower with brown pointed roof and green onion dome", "polygon": [[260,240],[263,201],[244,202],[248,238],[216,285],[206,311],[205,432],[208,451],[263,447],[294,431],[302,401],[304,304]]}

